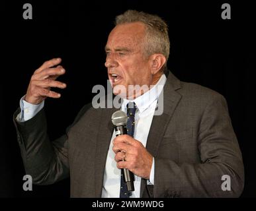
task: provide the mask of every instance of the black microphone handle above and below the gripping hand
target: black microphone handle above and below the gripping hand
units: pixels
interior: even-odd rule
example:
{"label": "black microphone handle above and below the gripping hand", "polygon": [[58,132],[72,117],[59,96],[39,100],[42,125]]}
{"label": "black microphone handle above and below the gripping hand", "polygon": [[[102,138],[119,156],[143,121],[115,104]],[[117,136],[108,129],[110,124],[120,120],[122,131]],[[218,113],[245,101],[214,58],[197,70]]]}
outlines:
{"label": "black microphone handle above and below the gripping hand", "polygon": [[[124,125],[118,125],[114,127],[114,131],[116,133],[116,136],[120,135],[127,135],[127,129]],[[124,181],[127,185],[128,191],[134,191],[134,174],[129,171],[128,169],[121,169],[122,175],[124,175]]]}

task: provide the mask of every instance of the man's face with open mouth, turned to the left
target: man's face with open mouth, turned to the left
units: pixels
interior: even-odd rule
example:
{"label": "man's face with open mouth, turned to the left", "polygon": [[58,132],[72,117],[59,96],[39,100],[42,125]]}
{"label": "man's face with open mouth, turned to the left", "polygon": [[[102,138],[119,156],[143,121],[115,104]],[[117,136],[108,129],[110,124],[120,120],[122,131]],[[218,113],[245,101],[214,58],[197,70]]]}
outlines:
{"label": "man's face with open mouth, turned to the left", "polygon": [[[151,84],[149,60],[143,51],[144,36],[145,26],[140,22],[120,24],[108,36],[105,47],[108,78],[113,88],[125,87],[126,96],[128,85]],[[114,94],[120,93],[114,91]]]}

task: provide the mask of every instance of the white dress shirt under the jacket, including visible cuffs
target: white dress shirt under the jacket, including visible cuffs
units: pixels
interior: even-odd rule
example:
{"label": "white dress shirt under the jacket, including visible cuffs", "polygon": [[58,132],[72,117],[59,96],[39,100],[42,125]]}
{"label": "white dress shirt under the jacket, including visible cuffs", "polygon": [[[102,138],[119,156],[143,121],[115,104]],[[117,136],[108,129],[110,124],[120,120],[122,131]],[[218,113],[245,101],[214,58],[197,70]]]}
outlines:
{"label": "white dress shirt under the jacket, including visible cuffs", "polygon": [[[135,100],[124,99],[121,106],[121,110],[125,113],[126,104],[128,104],[128,102],[135,102],[136,106],[138,107],[135,113],[134,139],[142,142],[144,147],[146,147],[147,144],[149,129],[151,127],[153,114],[157,106],[157,99],[163,90],[165,81],[166,76],[163,74],[158,80],[157,84],[148,90],[148,92],[144,93],[142,96],[139,96]],[[17,121],[24,122],[34,117],[44,107],[44,102],[38,105],[29,104],[24,100],[23,96],[20,101],[20,107],[21,113],[19,113],[17,116]],[[114,160],[115,154],[112,150],[112,141],[115,137],[116,135],[113,131],[105,166],[103,192],[101,195],[103,198],[119,198],[120,195],[120,169],[116,167],[116,161]],[[155,162],[153,159],[148,185],[154,184],[154,169]],[[140,183],[141,177],[134,175],[134,192],[132,192],[130,198],[140,198]]]}

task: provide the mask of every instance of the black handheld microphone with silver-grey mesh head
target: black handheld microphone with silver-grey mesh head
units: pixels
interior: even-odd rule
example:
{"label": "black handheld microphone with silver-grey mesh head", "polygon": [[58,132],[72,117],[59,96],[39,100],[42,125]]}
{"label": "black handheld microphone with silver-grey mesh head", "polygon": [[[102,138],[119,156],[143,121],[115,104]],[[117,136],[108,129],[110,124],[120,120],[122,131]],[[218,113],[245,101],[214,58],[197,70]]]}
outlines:
{"label": "black handheld microphone with silver-grey mesh head", "polygon": [[[116,111],[112,114],[112,123],[114,125],[114,131],[116,136],[127,134],[126,123],[128,117],[124,111]],[[134,174],[128,169],[121,169],[122,175],[124,175],[124,182],[126,182],[127,190],[134,191]]]}

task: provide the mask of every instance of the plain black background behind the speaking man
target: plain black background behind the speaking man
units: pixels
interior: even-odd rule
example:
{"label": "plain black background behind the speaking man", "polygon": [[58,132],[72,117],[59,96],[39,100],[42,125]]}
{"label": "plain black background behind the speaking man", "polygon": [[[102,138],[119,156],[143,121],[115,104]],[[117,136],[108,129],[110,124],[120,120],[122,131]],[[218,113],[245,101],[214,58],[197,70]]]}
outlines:
{"label": "plain black background behind the speaking man", "polygon": [[[24,20],[24,3],[32,20]],[[221,18],[230,3],[231,20]],[[25,175],[13,112],[32,73],[62,57],[67,83],[59,100],[46,100],[50,138],[62,135],[79,109],[91,102],[95,84],[107,84],[105,51],[114,17],[127,9],[161,16],[169,25],[168,67],[180,80],[212,88],[228,101],[245,166],[242,197],[256,196],[255,12],[246,1],[5,1],[1,6],[0,196],[69,196],[69,180],[23,191]]]}

